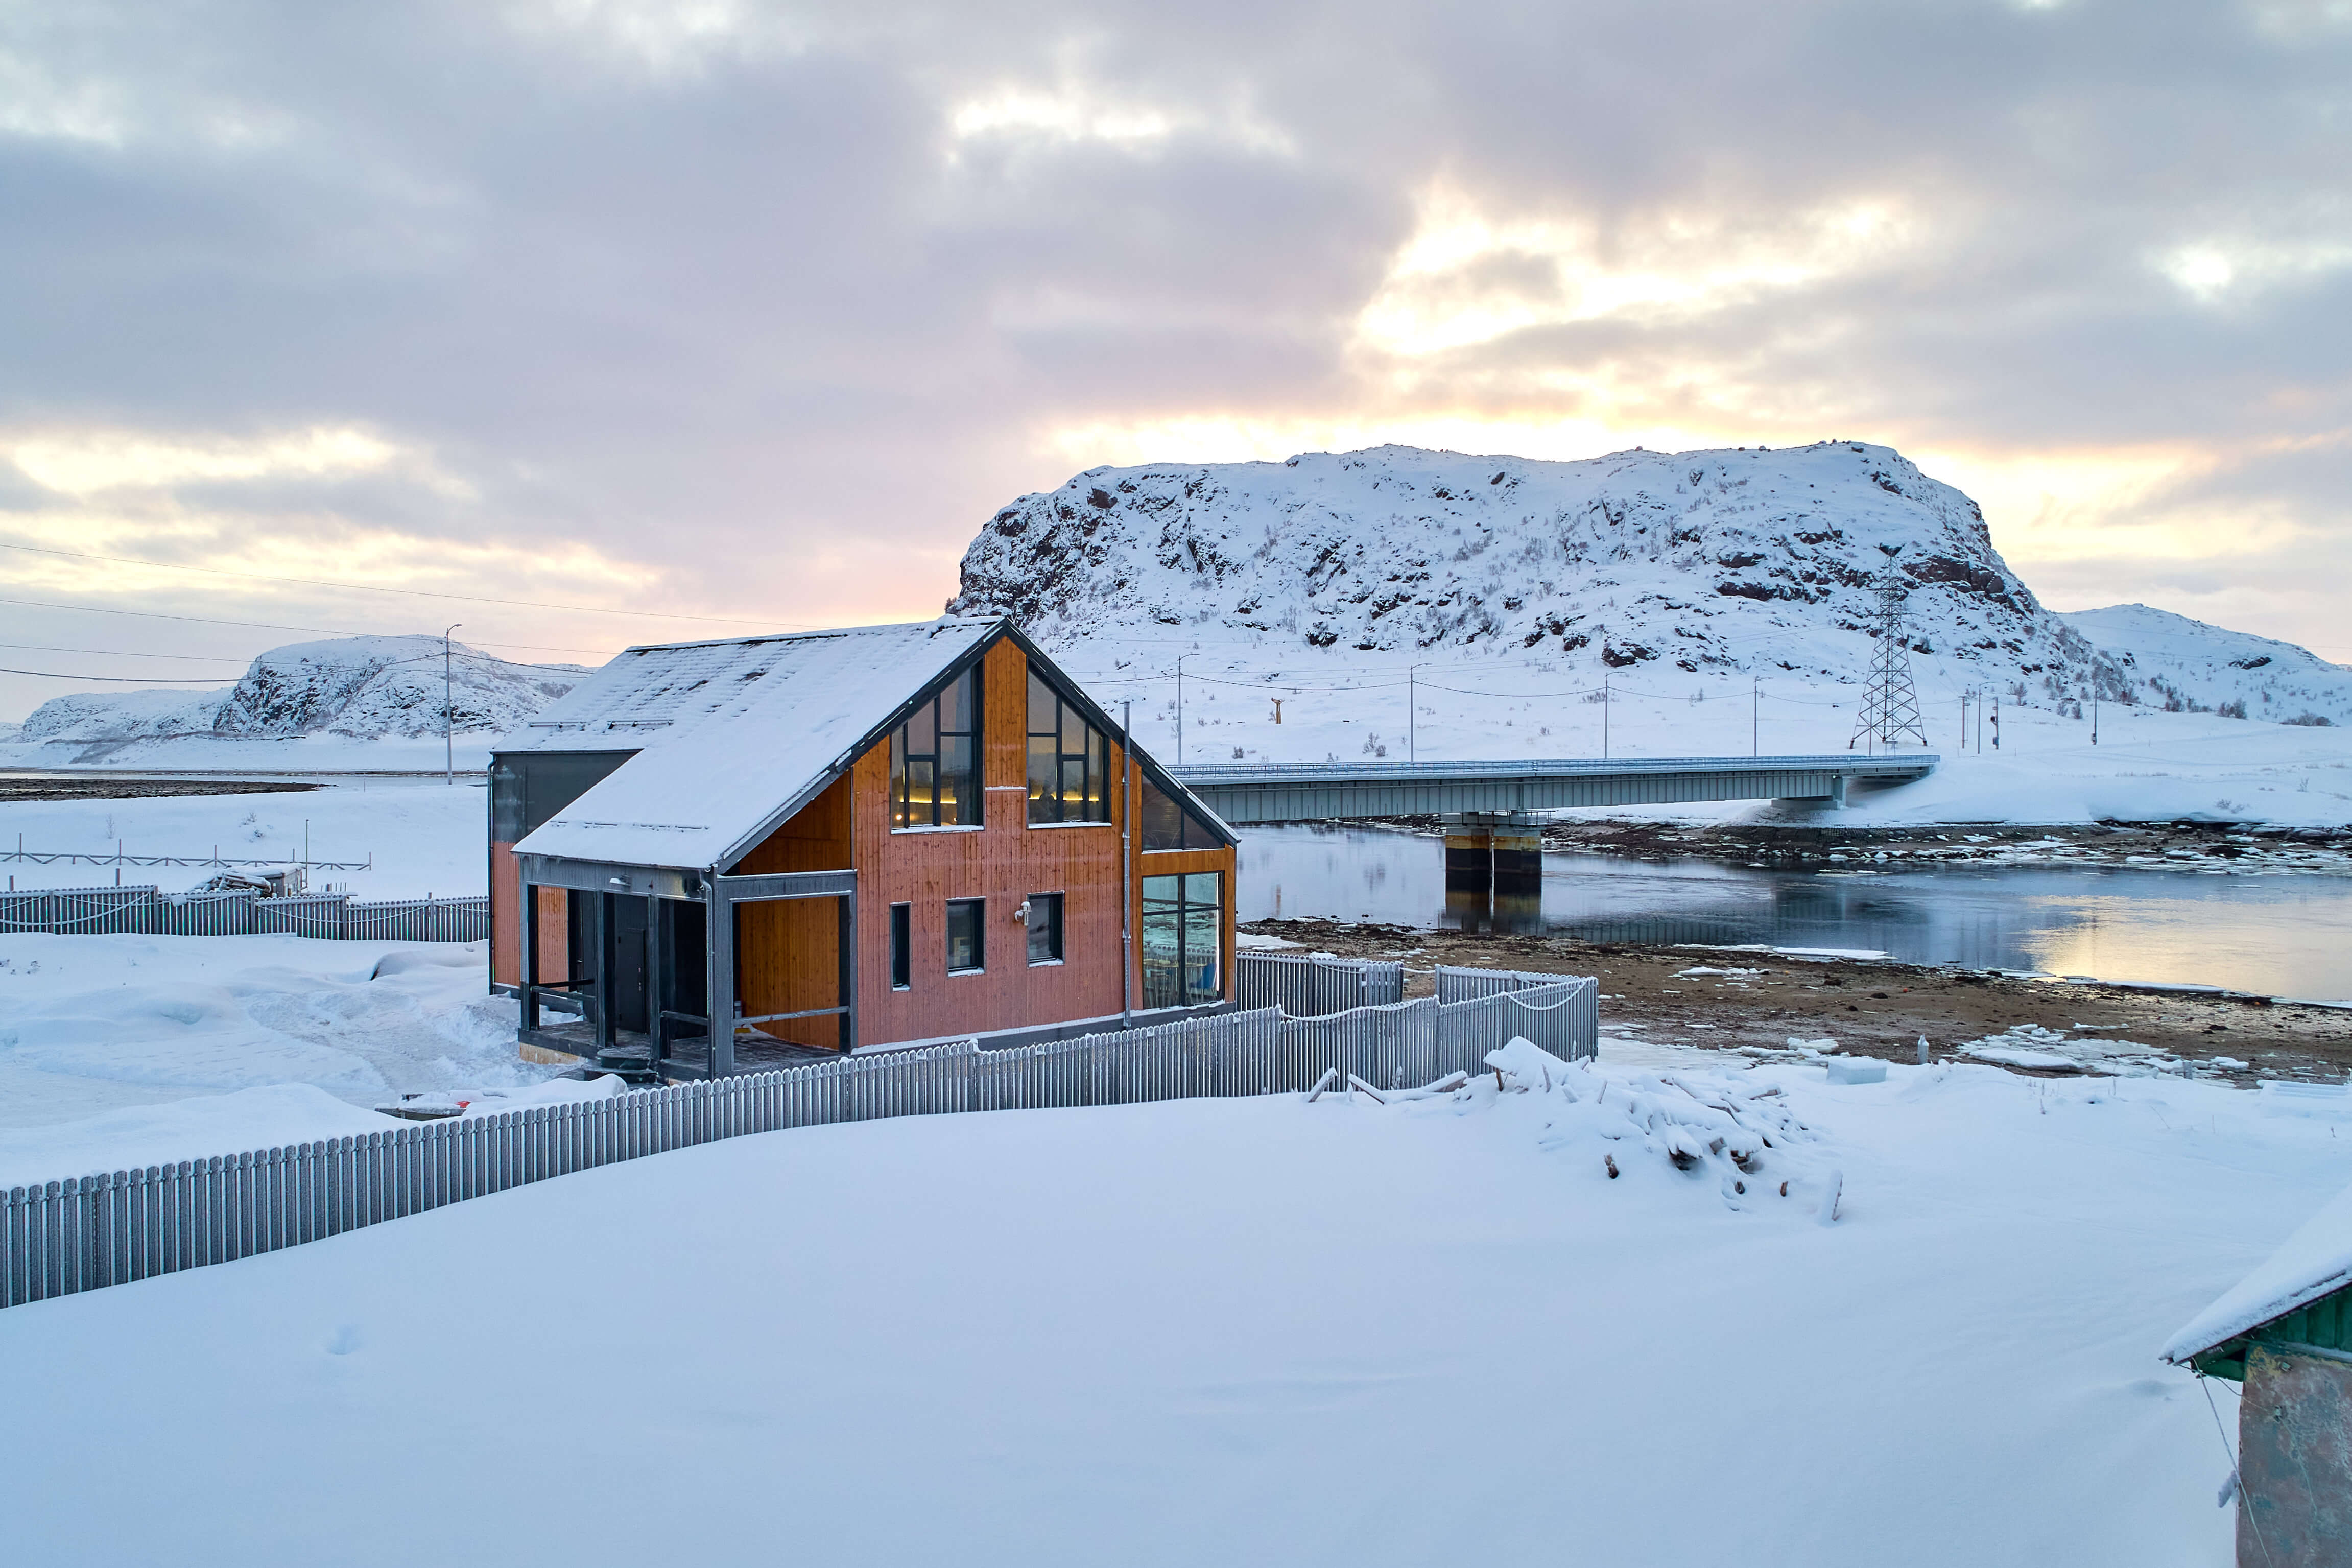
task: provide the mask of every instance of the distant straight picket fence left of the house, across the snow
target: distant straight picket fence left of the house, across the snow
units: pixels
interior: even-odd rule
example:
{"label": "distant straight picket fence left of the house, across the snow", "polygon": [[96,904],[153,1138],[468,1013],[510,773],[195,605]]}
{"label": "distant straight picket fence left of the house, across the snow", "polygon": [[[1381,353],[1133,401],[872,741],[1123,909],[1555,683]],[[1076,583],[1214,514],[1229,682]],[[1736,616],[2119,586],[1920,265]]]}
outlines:
{"label": "distant straight picket fence left of the house, across the snow", "polygon": [[482,943],[489,898],[383,898],[348,893],[179,893],[153,886],[26,889],[0,893],[0,931],[52,936],[266,936],[292,931],[327,940]]}

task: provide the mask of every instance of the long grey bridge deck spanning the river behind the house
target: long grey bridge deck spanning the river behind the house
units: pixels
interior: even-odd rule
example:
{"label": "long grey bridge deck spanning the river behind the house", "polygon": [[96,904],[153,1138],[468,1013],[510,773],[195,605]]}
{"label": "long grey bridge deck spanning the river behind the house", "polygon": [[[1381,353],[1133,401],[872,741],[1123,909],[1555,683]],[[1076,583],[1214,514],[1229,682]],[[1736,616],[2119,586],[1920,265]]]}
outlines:
{"label": "long grey bridge deck spanning the river behind the house", "polygon": [[1849,783],[1936,771],[1933,752],[1863,757],[1578,757],[1573,762],[1204,762],[1169,769],[1235,827],[1348,816],[1517,816],[1703,799],[1846,804]]}

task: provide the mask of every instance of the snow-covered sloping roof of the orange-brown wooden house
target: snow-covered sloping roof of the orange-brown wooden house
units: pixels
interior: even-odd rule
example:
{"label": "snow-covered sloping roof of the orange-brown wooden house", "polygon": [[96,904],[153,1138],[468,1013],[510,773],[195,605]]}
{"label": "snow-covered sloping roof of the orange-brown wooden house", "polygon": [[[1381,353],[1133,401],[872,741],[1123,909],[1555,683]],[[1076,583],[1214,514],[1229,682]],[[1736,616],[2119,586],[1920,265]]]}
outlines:
{"label": "snow-covered sloping roof of the orange-brown wooden house", "polygon": [[503,752],[637,752],[515,844],[619,865],[724,865],[1000,618],[628,649]]}

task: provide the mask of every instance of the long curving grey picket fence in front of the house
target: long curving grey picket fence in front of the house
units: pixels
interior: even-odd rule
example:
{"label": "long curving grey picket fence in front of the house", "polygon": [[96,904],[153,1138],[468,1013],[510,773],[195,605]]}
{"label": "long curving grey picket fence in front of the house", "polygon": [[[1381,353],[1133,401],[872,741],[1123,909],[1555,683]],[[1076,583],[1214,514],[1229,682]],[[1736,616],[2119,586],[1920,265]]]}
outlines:
{"label": "long curving grey picket fence in front of the house", "polygon": [[[1442,999],[1451,987],[1477,994]],[[746,1133],[950,1112],[1381,1088],[1477,1072],[1526,1034],[1592,1056],[1597,983],[1437,971],[1439,997],[1284,1018],[1279,1009],[988,1051],[955,1041],[365,1138],[33,1182],[0,1194],[0,1307],[233,1262],[593,1166]]]}

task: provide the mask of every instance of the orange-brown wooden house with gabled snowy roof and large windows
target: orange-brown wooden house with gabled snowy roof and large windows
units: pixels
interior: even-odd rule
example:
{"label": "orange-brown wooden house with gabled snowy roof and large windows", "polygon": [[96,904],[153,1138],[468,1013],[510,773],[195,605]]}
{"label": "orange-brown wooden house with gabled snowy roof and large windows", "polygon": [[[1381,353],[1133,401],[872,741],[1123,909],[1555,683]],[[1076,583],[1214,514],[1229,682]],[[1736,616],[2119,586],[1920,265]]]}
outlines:
{"label": "orange-brown wooden house with gabled snowy roof and large windows", "polygon": [[492,983],[640,1074],[1225,1006],[1232,870],[1009,621],[628,649],[492,757]]}

